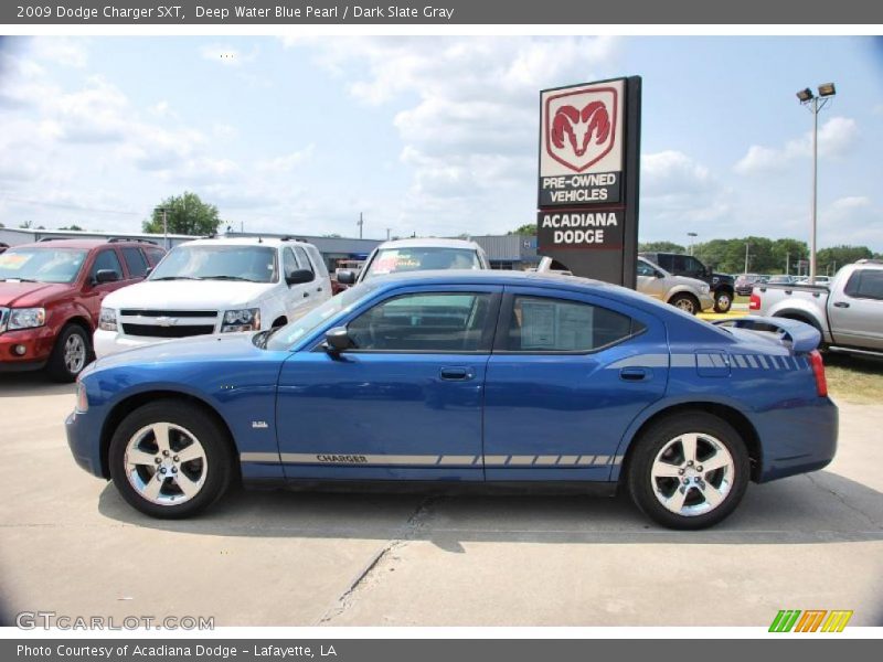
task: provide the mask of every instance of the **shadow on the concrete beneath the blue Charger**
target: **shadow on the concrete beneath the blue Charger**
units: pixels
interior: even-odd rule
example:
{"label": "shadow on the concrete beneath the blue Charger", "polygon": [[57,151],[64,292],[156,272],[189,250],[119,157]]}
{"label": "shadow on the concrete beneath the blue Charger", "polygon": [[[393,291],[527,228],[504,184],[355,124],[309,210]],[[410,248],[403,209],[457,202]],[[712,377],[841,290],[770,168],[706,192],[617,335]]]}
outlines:
{"label": "shadow on the concrete beneath the blue Charger", "polygon": [[829,471],[752,484],[716,527],[675,532],[653,524],[627,495],[406,493],[243,490],[205,514],[155,520],[108,483],[102,515],[140,527],[209,536],[428,541],[449,552],[461,542],[546,544],[807,544],[883,540],[883,493]]}

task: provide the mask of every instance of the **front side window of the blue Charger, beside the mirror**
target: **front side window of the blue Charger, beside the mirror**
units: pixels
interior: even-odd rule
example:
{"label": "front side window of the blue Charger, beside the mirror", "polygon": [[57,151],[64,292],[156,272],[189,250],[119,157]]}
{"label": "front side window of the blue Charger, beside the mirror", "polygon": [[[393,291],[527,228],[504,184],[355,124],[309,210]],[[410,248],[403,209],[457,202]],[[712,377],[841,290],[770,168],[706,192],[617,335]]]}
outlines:
{"label": "front side window of the blue Charger, beside the mirror", "polygon": [[491,308],[489,293],[415,293],[389,299],[352,320],[354,350],[478,352]]}

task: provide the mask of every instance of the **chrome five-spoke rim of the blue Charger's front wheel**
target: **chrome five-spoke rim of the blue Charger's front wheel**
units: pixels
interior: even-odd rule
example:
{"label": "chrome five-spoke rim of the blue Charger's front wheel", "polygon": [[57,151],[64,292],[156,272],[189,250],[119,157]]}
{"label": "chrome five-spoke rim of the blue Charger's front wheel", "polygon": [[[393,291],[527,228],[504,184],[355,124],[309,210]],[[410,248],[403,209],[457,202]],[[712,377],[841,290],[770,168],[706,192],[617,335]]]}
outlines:
{"label": "chrome five-spoke rim of the blue Charger's front wheel", "polygon": [[157,505],[190,501],[200,493],[209,471],[200,440],[172,423],[153,423],[135,433],[124,461],[129,484]]}

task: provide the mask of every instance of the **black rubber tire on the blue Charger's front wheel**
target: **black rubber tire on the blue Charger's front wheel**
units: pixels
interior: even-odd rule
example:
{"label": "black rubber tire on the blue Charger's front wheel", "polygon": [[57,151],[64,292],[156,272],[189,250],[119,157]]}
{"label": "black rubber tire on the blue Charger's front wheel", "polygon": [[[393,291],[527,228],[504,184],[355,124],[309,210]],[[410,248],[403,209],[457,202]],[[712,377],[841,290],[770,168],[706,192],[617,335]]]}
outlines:
{"label": "black rubber tire on the blue Charger's front wheel", "polygon": [[[169,452],[164,456],[156,442],[153,428],[145,433],[145,428],[157,424],[171,426],[167,436]],[[136,442],[136,437],[141,441]],[[202,459],[178,461],[179,457],[185,457],[184,451],[191,449],[193,440],[203,451]],[[164,469],[168,465],[168,473],[159,477],[161,469],[149,463],[138,465],[136,469],[127,468],[130,442],[134,445],[132,453],[151,453],[156,447],[155,455],[161,459],[158,466]],[[163,520],[195,515],[221,499],[233,478],[234,461],[227,430],[199,406],[173,399],[157,401],[129,414],[114,431],[108,453],[110,478],[123,498],[142,513]],[[190,483],[201,480],[192,495],[188,496],[179,487],[180,479],[171,473],[173,469]],[[161,491],[157,501],[151,501],[146,494],[148,485],[155,484],[155,478]]]}

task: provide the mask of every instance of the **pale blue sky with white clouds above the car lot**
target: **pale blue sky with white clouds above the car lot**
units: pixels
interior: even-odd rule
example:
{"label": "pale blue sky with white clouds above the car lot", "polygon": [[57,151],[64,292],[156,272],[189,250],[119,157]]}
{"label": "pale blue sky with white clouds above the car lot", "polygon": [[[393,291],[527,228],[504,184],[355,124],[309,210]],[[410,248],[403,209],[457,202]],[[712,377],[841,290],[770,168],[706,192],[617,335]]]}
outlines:
{"label": "pale blue sky with white clouds above the car lot", "polygon": [[251,231],[535,220],[539,90],[643,76],[640,235],[883,250],[883,43],[859,38],[36,38],[0,42],[0,222],[135,231],[184,190]]}

